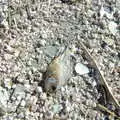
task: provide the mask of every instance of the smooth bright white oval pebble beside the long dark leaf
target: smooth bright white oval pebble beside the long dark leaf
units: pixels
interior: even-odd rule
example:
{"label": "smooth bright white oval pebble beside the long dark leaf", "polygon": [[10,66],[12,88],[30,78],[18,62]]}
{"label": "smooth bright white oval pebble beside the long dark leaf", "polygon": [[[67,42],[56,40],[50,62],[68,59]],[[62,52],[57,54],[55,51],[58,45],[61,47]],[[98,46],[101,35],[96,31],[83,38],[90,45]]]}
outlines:
{"label": "smooth bright white oval pebble beside the long dark leaf", "polygon": [[78,73],[79,75],[83,75],[83,74],[89,73],[88,67],[86,67],[86,66],[83,65],[82,63],[77,63],[77,64],[75,65],[75,71],[76,71],[76,73]]}

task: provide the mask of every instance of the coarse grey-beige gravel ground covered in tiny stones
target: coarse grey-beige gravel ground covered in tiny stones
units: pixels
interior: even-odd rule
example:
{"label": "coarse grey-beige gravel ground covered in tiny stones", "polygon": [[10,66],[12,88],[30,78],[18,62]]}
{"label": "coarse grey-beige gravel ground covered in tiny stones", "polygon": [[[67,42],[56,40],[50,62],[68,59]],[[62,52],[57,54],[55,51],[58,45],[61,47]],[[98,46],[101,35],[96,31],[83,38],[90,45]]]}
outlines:
{"label": "coarse grey-beige gravel ground covered in tiny stones", "polygon": [[[119,0],[0,0],[0,120],[114,120],[96,108],[104,95],[79,41],[120,103]],[[72,77],[48,94],[44,72],[62,46],[75,51]]]}

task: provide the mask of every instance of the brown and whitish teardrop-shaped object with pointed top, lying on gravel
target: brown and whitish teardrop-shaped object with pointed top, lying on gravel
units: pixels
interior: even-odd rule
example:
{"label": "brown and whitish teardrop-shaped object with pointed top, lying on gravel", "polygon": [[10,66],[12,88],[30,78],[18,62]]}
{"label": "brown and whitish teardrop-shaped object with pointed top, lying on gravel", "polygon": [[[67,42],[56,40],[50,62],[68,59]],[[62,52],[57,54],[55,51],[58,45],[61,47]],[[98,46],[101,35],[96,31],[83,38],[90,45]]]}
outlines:
{"label": "brown and whitish teardrop-shaped object with pointed top, lying on gravel", "polygon": [[48,65],[44,81],[45,91],[55,91],[65,85],[71,77],[71,65],[70,50],[69,48],[65,48],[65,50]]}

